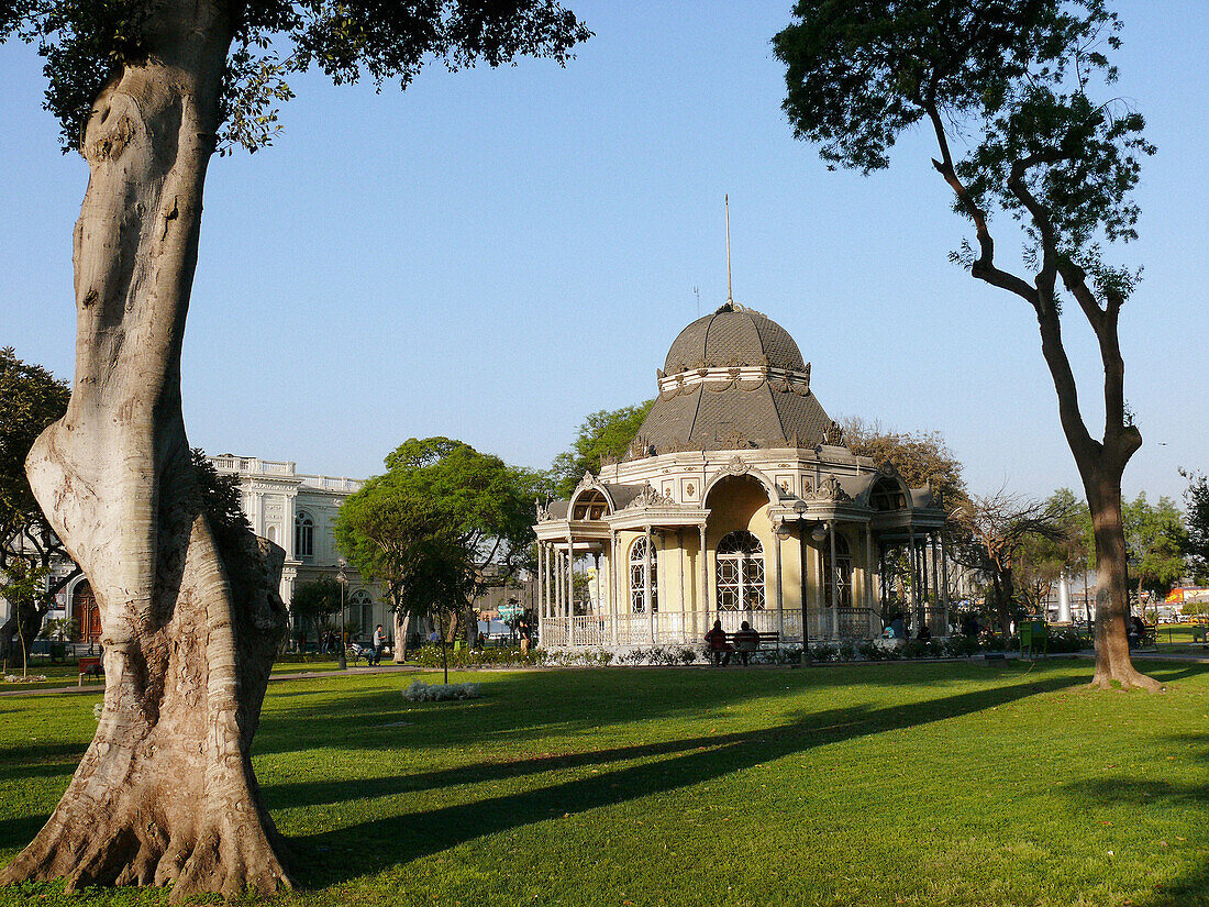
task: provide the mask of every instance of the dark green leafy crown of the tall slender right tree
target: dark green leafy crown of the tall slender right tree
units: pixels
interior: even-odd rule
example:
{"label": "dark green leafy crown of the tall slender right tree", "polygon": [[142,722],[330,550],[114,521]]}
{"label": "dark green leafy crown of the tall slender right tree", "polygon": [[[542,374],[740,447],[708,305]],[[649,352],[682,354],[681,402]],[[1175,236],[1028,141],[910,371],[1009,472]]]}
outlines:
{"label": "dark green leafy crown of the tall slender right tree", "polygon": [[967,137],[960,213],[997,208],[1041,244],[1024,190],[1052,248],[1128,295],[1134,276],[1103,264],[1098,238],[1135,237],[1130,192],[1153,148],[1140,114],[1091,97],[1116,81],[1106,54],[1120,23],[1105,0],[798,0],[793,16],[774,39],[783,106],[823,160],[883,169],[921,122]]}

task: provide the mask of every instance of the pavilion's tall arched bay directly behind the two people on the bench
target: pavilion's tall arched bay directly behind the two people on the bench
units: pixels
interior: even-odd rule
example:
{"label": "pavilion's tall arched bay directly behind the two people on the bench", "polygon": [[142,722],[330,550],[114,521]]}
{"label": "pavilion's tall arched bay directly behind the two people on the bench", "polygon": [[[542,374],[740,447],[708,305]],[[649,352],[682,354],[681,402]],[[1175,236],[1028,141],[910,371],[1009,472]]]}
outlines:
{"label": "pavilion's tall arched bay directly behind the two people on the bench", "polygon": [[785,632],[782,539],[769,519],[776,492],[762,476],[724,475],[706,490],[708,623],[735,631],[747,620],[760,632]]}

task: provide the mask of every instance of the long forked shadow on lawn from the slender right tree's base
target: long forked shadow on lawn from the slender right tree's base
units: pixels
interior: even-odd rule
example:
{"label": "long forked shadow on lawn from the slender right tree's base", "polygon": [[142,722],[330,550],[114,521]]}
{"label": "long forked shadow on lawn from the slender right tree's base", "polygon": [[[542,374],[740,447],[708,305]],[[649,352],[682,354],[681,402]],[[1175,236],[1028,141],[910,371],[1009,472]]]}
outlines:
{"label": "long forked shadow on lawn from the slender right tree's base", "polygon": [[[325,886],[381,872],[486,834],[690,787],[816,746],[970,715],[1035,693],[1069,688],[1078,682],[1069,676],[1051,676],[1030,683],[965,692],[891,707],[857,705],[822,710],[798,715],[787,723],[718,736],[694,736],[583,752],[555,761],[537,757],[484,763],[370,782],[271,785],[266,793],[273,804],[339,804],[375,793],[384,796],[413,791],[420,786],[432,788],[467,784],[472,779],[539,775],[551,768],[566,766],[598,764],[607,769],[588,779],[536,786],[519,793],[478,799],[428,813],[384,815],[348,827],[294,838],[290,848],[296,856],[301,880],[308,885]],[[637,766],[607,768],[619,762],[653,756],[663,758]],[[355,857],[349,859],[348,854],[355,854]]]}

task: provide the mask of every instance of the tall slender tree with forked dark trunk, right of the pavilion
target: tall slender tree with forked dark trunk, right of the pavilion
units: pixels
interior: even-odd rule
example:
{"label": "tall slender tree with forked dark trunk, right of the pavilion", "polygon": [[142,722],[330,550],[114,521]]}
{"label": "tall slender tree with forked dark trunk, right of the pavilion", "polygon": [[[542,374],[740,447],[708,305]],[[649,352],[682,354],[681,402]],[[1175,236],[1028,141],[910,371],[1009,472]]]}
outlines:
{"label": "tall slender tree with forked dark trunk, right of the pavilion", "polygon": [[[786,64],[785,110],[831,166],[890,166],[907,129],[935,137],[932,166],[973,225],[956,262],[1026,302],[1058,394],[1058,415],[1095,530],[1093,683],[1158,689],[1129,659],[1121,476],[1141,446],[1126,404],[1118,322],[1139,275],[1105,260],[1135,238],[1132,191],[1152,154],[1140,114],[1098,89],[1117,76],[1106,0],[798,0],[774,39]],[[968,148],[954,156],[954,138]],[[1020,225],[1020,273],[996,260],[991,215]],[[1026,276],[1022,276],[1022,273]],[[1104,429],[1083,418],[1063,342],[1063,299],[1075,302],[1100,353]]]}

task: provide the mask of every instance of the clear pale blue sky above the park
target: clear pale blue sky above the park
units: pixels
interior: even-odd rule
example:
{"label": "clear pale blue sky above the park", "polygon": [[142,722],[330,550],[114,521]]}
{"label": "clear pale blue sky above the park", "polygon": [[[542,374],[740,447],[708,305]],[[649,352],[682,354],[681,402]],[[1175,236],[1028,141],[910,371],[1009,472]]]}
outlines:
{"label": "clear pale blue sky above the park", "polygon": [[[565,70],[302,77],[273,148],[213,162],[193,444],[361,476],[444,434],[545,467],[585,414],[653,394],[694,287],[702,313],[724,301],[729,192],[735,300],[793,334],[833,417],[942,432],[974,491],[1078,487],[1031,311],[947,261],[968,229],[926,135],[870,178],[793,139],[769,45],[789,0],[569,5],[596,37]],[[1118,91],[1158,145],[1122,255],[1145,266],[1122,317],[1146,439],[1126,492],[1179,496],[1178,467],[1209,468],[1209,5],[1118,8]],[[58,151],[31,51],[0,47],[0,343],[70,377],[87,169]],[[1097,433],[1098,357],[1065,330]]]}

